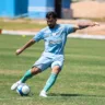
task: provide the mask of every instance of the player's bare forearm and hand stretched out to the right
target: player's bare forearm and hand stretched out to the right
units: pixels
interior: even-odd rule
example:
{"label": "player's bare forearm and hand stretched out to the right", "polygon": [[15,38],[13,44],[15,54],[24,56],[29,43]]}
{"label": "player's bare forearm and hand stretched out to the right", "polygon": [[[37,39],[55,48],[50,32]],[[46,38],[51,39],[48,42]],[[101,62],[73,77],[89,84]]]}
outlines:
{"label": "player's bare forearm and hand stretched out to the right", "polygon": [[77,30],[83,30],[83,28],[86,28],[90,26],[96,26],[96,25],[100,25],[100,24],[97,22],[80,22],[77,25],[74,25],[73,30],[75,32]]}

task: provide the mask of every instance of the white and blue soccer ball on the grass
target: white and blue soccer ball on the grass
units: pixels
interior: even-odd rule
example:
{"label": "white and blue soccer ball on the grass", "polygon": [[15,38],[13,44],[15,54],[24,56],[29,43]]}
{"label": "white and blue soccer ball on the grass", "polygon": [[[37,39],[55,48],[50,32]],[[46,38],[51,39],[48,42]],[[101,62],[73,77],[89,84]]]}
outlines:
{"label": "white and blue soccer ball on the grass", "polygon": [[18,86],[16,92],[21,95],[21,96],[26,96],[30,94],[31,89],[26,83],[22,83]]}

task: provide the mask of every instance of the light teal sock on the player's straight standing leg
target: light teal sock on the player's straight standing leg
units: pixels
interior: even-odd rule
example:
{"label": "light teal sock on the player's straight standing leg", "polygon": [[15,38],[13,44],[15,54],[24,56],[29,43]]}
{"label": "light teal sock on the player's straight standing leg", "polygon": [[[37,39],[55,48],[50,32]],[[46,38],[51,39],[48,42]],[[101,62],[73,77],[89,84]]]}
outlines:
{"label": "light teal sock on the player's straight standing leg", "polygon": [[44,91],[47,92],[55,83],[56,79],[57,79],[57,75],[56,73],[51,73],[49,79],[47,80],[45,86],[44,86]]}

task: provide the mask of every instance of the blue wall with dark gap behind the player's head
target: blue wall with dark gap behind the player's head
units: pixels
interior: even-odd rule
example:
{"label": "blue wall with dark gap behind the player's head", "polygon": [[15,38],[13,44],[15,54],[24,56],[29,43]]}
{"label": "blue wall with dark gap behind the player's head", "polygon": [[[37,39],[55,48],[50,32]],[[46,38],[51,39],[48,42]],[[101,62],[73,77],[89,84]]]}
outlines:
{"label": "blue wall with dark gap behind the player's head", "polygon": [[1,18],[28,16],[45,19],[48,11],[56,11],[58,18],[70,18],[71,0],[1,0]]}

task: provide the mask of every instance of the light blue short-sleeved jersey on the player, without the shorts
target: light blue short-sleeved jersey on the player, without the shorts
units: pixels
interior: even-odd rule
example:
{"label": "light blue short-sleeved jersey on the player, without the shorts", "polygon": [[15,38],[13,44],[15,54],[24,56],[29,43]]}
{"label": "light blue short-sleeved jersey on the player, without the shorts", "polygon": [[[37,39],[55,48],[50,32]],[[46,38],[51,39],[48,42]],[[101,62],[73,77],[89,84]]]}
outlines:
{"label": "light blue short-sleeved jersey on the player, without the shorts", "polygon": [[67,35],[72,32],[73,25],[71,24],[57,24],[55,28],[45,27],[34,36],[34,39],[35,42],[45,40],[44,52],[63,55]]}

